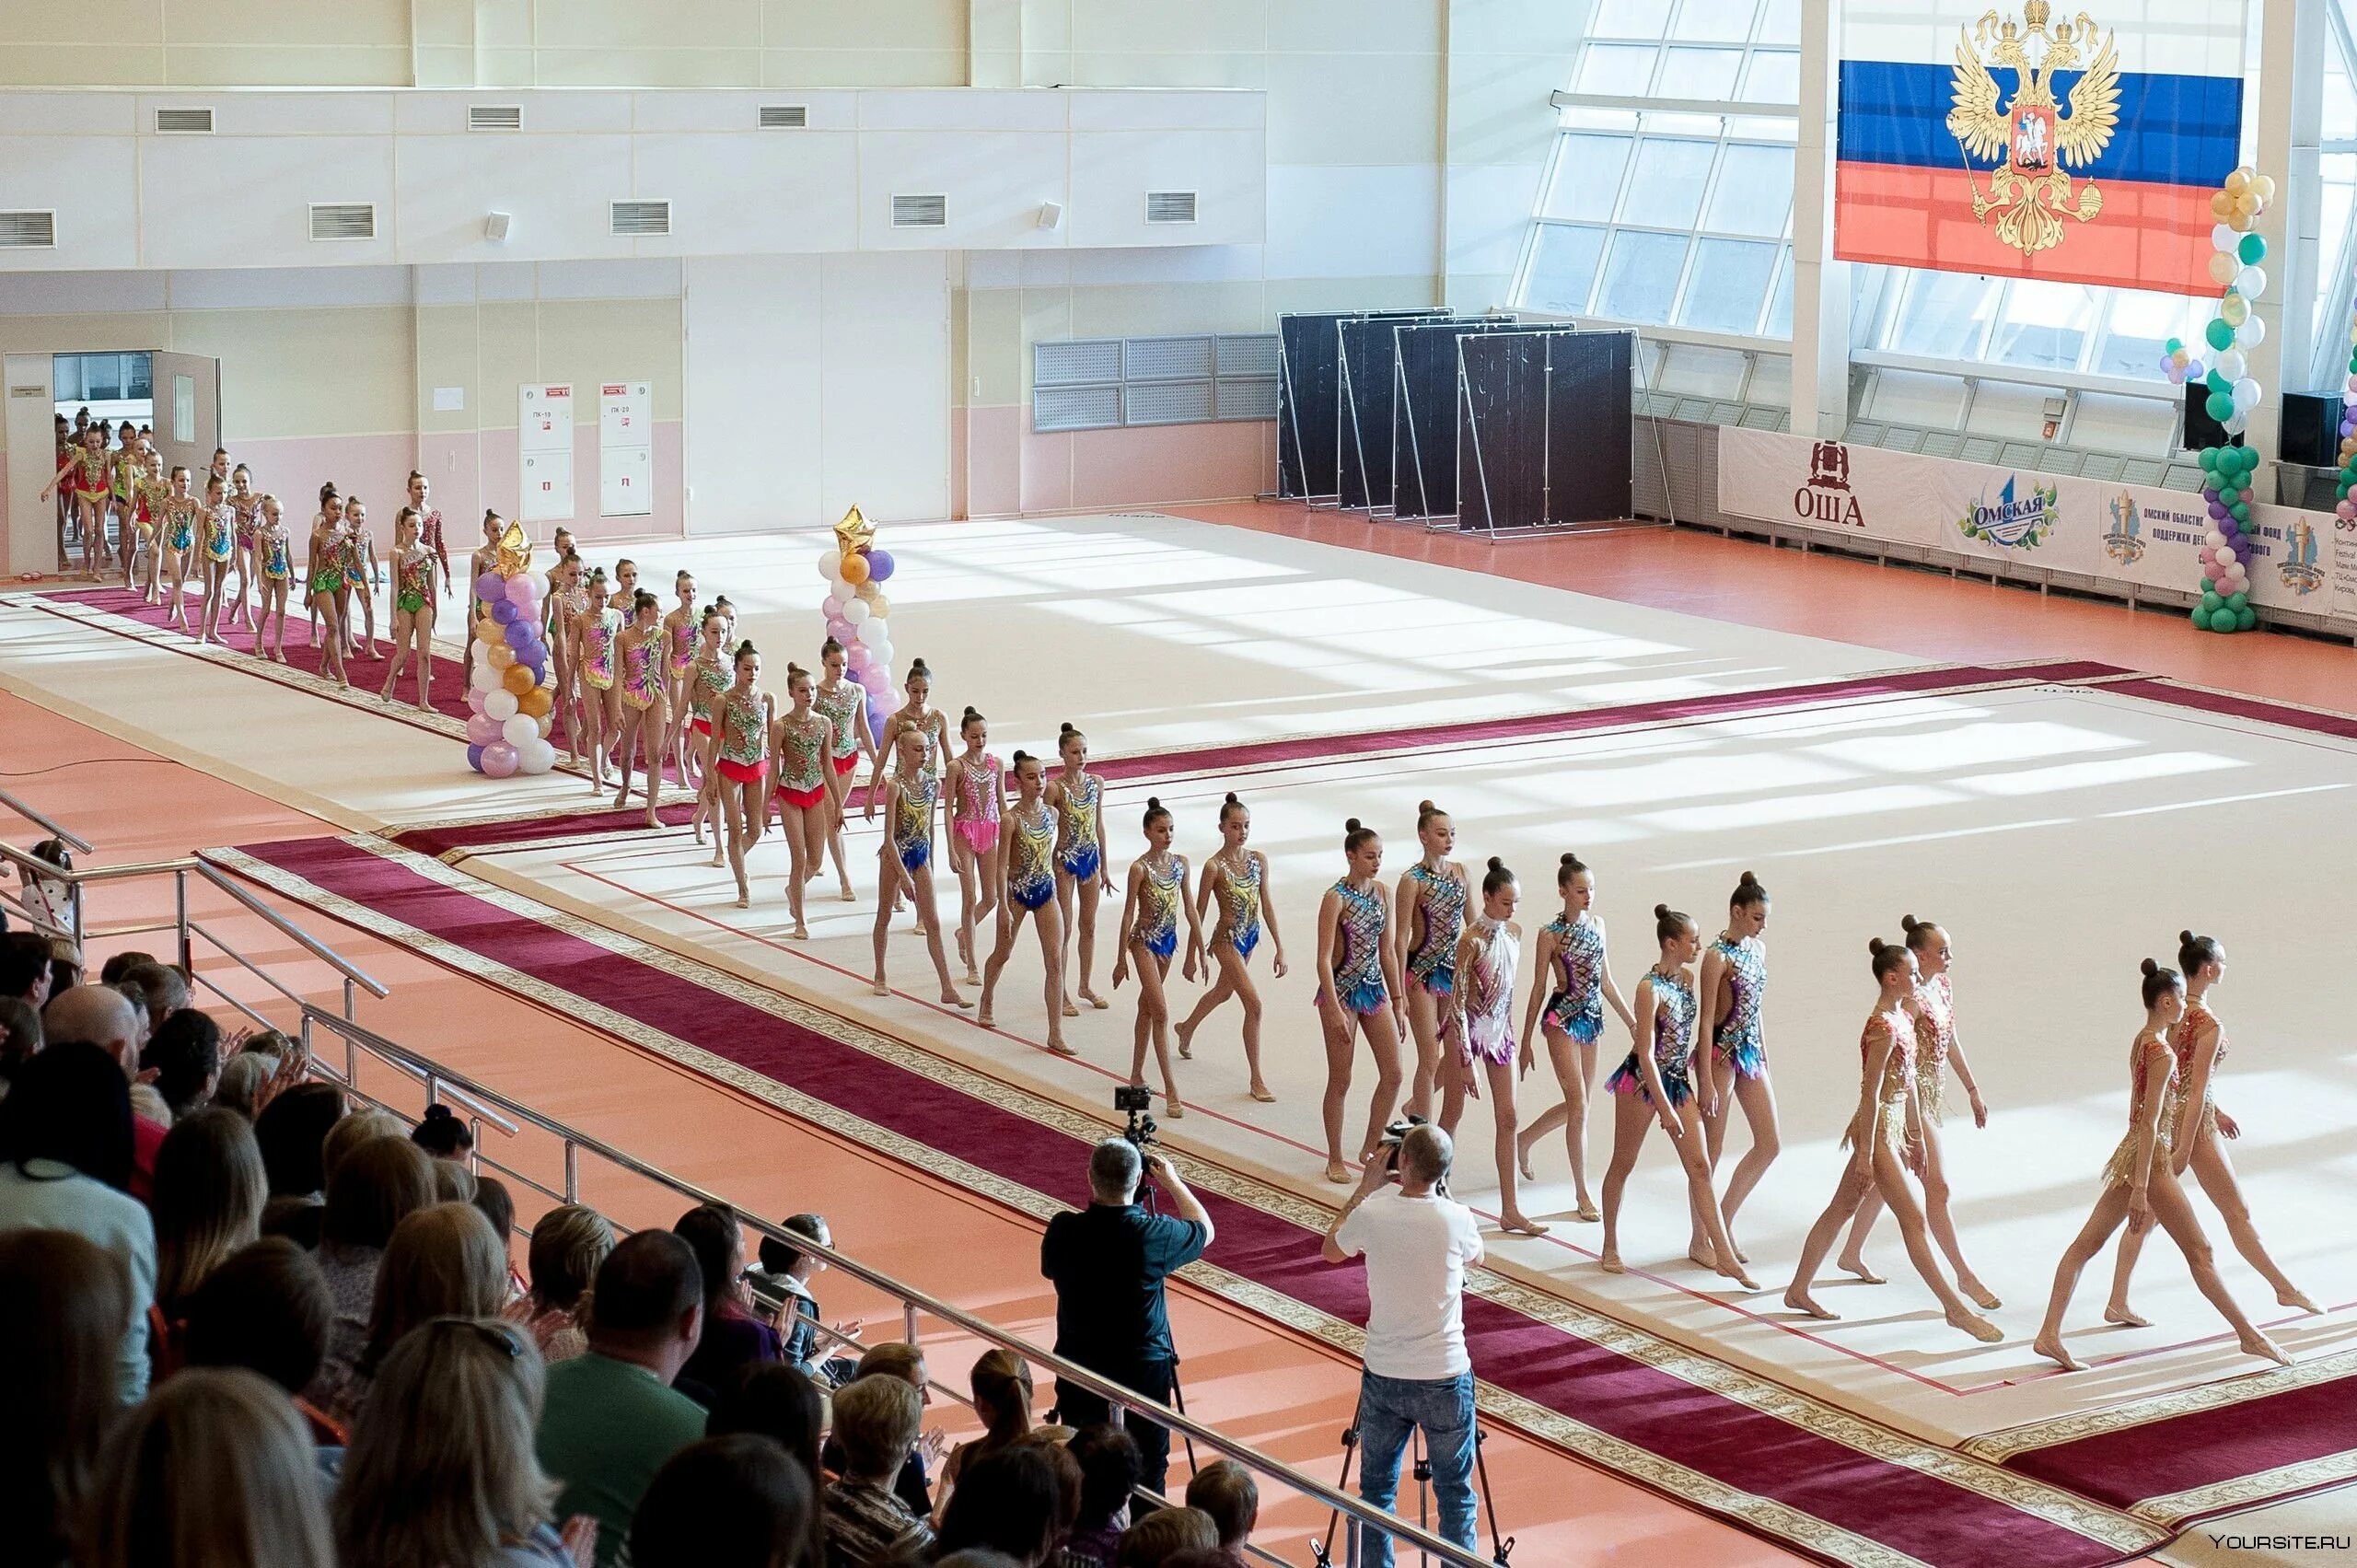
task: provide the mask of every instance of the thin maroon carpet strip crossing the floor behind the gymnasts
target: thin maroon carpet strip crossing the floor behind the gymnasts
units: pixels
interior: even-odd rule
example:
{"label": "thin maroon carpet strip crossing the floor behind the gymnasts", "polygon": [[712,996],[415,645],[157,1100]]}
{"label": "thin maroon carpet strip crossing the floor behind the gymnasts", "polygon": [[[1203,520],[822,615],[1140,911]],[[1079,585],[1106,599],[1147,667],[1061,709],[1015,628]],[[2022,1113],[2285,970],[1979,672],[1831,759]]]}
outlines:
{"label": "thin maroon carpet strip crossing the floor behind the gymnasts", "polygon": [[[1365,757],[1372,752],[1395,752],[1402,747],[1438,745],[1487,745],[1499,740],[1530,740],[1551,736],[1579,736],[1622,724],[1681,724],[1695,719],[1730,719],[1747,712],[1798,707],[1805,703],[1855,703],[1886,696],[1926,696],[1961,686],[1989,684],[2039,684],[2039,681],[2093,681],[2131,674],[2114,665],[2093,660],[2062,660],[2046,665],[1926,665],[1919,670],[1893,670],[1886,674],[1860,674],[1836,681],[1805,681],[1798,686],[1758,686],[1754,691],[1714,691],[1695,698],[1659,698],[1652,703],[1615,703],[1607,707],[1577,707],[1567,712],[1520,714],[1513,719],[1466,719],[1457,724],[1431,724],[1421,729],[1376,729],[1343,736],[1294,736],[1287,740],[1237,740],[1174,752],[1138,752],[1131,757],[1108,757],[1094,764],[1101,778],[1122,783],[1131,778],[1162,778],[1167,773],[1209,773],[1219,769],[1268,766],[1275,762],[1322,762],[1332,757]],[[658,811],[667,828],[688,821],[693,804],[681,802]],[[443,858],[483,844],[540,844],[589,832],[627,832],[643,825],[634,811],[568,811],[561,816],[533,816],[481,823],[453,823],[441,828],[410,828],[389,835],[394,844],[415,849],[422,856]]]}

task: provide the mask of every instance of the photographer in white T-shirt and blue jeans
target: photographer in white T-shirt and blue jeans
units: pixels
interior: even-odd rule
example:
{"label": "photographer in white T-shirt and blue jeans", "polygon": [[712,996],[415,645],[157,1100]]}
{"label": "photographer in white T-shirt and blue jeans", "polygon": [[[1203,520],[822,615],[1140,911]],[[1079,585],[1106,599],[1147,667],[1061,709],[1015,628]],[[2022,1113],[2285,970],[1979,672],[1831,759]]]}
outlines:
{"label": "photographer in white T-shirt and blue jeans", "polygon": [[[1447,1195],[1450,1134],[1417,1125],[1367,1155],[1358,1191],[1327,1226],[1325,1259],[1367,1257],[1367,1365],[1358,1384],[1358,1495],[1391,1509],[1400,1452],[1424,1429],[1438,1535],[1473,1551],[1473,1361],[1466,1356],[1466,1264],[1478,1264],[1473,1210]],[[1393,1170],[1393,1162],[1398,1170]],[[1367,1542],[1365,1568],[1391,1568],[1391,1537]]]}

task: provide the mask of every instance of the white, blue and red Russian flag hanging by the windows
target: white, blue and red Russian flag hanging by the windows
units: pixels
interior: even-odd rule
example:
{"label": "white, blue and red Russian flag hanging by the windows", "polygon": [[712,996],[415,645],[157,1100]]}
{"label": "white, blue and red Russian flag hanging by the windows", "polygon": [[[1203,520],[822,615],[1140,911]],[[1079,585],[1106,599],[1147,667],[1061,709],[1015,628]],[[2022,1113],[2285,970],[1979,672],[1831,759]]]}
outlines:
{"label": "white, blue and red Russian flag hanging by the windows", "polygon": [[[2242,0],[1926,0],[1907,9],[1853,5],[1843,17],[1841,108],[1834,172],[1834,255],[1846,262],[1928,266],[2102,288],[2213,295],[2211,196],[2242,160]],[[2084,17],[2095,28],[2081,33]],[[2036,68],[2069,26],[2077,68],[2055,68],[2053,108],[2018,101],[2022,71],[1994,64],[2013,33]],[[1959,97],[1959,42],[1996,83],[1989,132],[2003,146],[1968,151],[1949,116]],[[2088,163],[2058,156],[2072,90],[2110,47],[2117,123]],[[1970,94],[1968,94],[1970,97]],[[1999,236],[2020,193],[2069,177],[2067,205],[2041,200],[2060,238],[2022,250]],[[2098,191],[2079,217],[2088,189]],[[1975,196],[1987,205],[1975,217]],[[1989,198],[1999,200],[1992,205]],[[2041,219],[2025,219],[2044,226]],[[2051,231],[2051,229],[2048,229]]]}

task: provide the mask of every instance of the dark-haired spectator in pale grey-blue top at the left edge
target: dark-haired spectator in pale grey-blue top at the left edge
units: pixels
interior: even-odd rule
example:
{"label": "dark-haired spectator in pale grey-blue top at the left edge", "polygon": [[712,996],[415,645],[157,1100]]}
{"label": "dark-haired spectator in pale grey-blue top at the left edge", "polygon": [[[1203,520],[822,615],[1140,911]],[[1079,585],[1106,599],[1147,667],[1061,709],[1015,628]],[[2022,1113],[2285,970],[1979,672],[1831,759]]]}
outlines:
{"label": "dark-haired spectator in pale grey-blue top at the left edge", "polygon": [[0,1101],[0,1231],[73,1231],[111,1252],[130,1285],[115,1349],[123,1403],[148,1382],[156,1224],[130,1195],[132,1101],[123,1068],[94,1045],[54,1045]]}

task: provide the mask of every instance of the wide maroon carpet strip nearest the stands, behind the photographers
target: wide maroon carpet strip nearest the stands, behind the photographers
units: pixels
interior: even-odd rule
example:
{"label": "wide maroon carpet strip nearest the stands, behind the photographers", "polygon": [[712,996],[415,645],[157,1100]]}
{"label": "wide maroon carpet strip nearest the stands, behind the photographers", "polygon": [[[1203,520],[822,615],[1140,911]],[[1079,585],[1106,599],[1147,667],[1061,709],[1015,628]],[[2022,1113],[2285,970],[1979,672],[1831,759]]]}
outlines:
{"label": "wide maroon carpet strip nearest the stands, behind the photographers", "polygon": [[[900,1129],[917,1122],[912,1137],[1061,1203],[1087,1198],[1080,1179],[1087,1148],[1080,1139],[818,1030],[511,915],[342,839],[288,839],[243,854],[651,1028],[676,1035],[686,1023],[686,1037],[700,1049],[851,1115]],[[681,990],[693,997],[684,1000]],[[1365,1323],[1362,1273],[1325,1266],[1313,1231],[1216,1193],[1207,1193],[1204,1203],[1221,1231],[1219,1266],[1336,1318]],[[2119,1551],[2077,1530],[1751,1410],[1497,1302],[1466,1302],[1466,1339],[1480,1375],[1506,1391],[1923,1563],[2093,1568],[2121,1561]],[[1758,1533],[1739,1514],[1706,1511]],[[1805,1542],[1768,1537],[1810,1551]]]}

